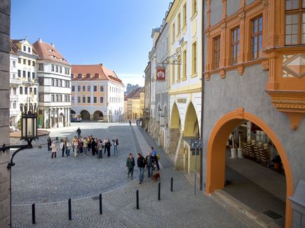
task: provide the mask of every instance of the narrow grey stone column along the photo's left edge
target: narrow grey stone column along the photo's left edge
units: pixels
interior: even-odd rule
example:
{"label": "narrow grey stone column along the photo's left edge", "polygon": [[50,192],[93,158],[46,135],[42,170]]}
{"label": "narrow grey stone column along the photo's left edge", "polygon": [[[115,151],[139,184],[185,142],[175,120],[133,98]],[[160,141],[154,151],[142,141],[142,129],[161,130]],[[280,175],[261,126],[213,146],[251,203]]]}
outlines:
{"label": "narrow grey stone column along the photo's left edge", "polygon": [[[0,0],[0,145],[9,145],[10,116],[10,22],[11,0]],[[10,159],[10,150],[0,151],[0,227],[11,225],[11,173],[6,166]]]}

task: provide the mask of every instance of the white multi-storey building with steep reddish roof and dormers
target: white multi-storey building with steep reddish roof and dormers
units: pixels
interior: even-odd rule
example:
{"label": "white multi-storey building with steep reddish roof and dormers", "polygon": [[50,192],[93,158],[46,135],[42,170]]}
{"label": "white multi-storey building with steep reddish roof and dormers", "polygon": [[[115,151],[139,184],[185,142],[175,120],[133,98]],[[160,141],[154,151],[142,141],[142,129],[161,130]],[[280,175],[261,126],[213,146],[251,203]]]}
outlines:
{"label": "white multi-storey building with steep reddish roof and dormers", "polygon": [[70,125],[71,65],[53,44],[39,39],[33,44],[39,59],[39,126],[60,128]]}

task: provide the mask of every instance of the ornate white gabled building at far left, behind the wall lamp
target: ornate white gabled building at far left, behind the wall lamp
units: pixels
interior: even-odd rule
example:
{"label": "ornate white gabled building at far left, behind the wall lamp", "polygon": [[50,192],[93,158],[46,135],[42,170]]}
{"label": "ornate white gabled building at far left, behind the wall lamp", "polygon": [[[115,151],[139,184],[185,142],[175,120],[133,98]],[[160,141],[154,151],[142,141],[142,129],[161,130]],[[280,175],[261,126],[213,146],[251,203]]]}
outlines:
{"label": "ornate white gabled building at far left, behind the wall lamp", "polygon": [[10,43],[10,126],[18,128],[20,105],[38,105],[36,60],[38,55],[27,39],[12,39]]}

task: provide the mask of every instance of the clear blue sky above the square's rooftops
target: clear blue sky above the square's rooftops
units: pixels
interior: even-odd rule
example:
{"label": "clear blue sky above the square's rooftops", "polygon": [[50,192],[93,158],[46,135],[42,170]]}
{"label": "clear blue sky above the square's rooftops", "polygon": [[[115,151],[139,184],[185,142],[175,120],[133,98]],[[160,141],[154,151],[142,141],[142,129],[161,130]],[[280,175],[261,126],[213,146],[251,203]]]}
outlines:
{"label": "clear blue sky above the square's rooftops", "polygon": [[[86,4],[84,4],[84,2]],[[72,64],[113,69],[123,83],[144,86],[151,29],[169,0],[12,0],[11,37],[54,43]]]}

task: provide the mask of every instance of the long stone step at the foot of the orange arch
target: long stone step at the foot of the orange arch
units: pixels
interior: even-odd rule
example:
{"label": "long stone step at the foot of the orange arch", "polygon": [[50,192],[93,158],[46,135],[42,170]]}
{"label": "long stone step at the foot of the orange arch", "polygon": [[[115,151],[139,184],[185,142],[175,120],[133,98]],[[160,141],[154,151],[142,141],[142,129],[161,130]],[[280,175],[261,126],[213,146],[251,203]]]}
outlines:
{"label": "long stone step at the foot of the orange arch", "polygon": [[246,222],[250,227],[280,227],[270,217],[246,206],[244,203],[241,203],[221,189],[213,192],[210,196],[224,206],[224,208],[240,218],[240,220]]}

